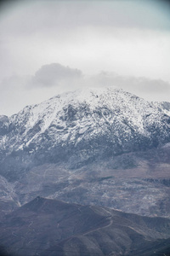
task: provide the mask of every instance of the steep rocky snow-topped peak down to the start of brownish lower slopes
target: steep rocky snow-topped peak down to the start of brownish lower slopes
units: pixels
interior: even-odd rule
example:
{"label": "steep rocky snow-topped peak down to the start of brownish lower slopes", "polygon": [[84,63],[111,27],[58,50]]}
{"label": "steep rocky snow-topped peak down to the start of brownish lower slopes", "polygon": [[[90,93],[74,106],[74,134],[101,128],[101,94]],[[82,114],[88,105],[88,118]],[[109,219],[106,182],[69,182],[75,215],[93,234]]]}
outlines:
{"label": "steep rocky snow-topped peak down to the start of brownish lower slopes", "polygon": [[0,173],[43,163],[70,168],[170,142],[170,103],[115,88],[83,89],[0,117]]}

